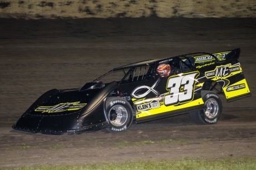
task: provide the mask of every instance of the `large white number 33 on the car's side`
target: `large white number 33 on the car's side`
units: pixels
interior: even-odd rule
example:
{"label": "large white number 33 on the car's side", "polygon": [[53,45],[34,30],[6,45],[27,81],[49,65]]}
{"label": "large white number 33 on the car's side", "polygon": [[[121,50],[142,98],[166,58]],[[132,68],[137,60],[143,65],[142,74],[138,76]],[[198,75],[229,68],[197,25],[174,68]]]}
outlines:
{"label": "large white number 33 on the car's side", "polygon": [[169,106],[179,102],[191,101],[194,97],[195,78],[198,74],[198,72],[195,72],[185,76],[170,77],[166,87],[169,94],[164,96],[164,104]]}

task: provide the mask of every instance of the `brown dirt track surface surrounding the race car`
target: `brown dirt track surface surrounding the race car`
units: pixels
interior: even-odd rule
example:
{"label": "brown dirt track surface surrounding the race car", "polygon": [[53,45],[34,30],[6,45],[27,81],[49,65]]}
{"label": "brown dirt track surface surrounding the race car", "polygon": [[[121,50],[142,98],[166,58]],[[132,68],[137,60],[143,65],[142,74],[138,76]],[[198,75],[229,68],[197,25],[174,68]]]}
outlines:
{"label": "brown dirt track surface surrounding the race car", "polygon": [[[0,19],[0,168],[137,159],[256,157],[256,19]],[[187,114],[122,133],[52,136],[12,130],[52,88],[77,88],[111,68],[150,58],[241,48],[252,97],[227,103],[217,124]]]}

